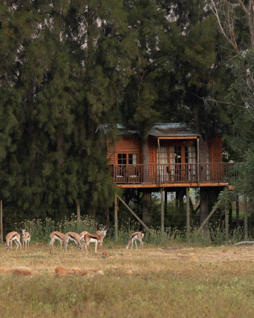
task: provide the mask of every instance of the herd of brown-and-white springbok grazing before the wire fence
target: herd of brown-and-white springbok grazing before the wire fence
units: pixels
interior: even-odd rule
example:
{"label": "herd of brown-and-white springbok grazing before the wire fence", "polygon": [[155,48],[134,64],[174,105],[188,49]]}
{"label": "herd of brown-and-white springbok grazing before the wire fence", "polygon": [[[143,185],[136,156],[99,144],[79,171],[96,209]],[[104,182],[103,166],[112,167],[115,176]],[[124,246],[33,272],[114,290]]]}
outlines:
{"label": "herd of brown-and-white springbok grazing before the wire fence", "polygon": [[[75,233],[75,232],[67,232],[67,233],[61,233],[58,231],[54,231],[52,233],[50,233],[50,248],[55,242],[55,240],[59,240],[60,241],[60,245],[62,248],[63,242],[64,242],[64,246],[65,249],[67,250],[67,248],[69,247],[68,243],[69,242],[74,242],[76,244],[77,249],[82,250],[83,247],[85,247],[85,250],[87,251],[87,246],[90,243],[95,243],[95,252],[97,252],[97,245],[98,243],[100,243],[100,247],[103,248],[103,239],[106,236],[107,233],[107,228],[106,226],[101,227],[99,226],[99,231],[97,231],[95,234],[90,234],[87,231],[81,232],[80,234]],[[24,249],[24,243],[25,243],[25,251],[26,251],[26,247],[28,244],[28,249],[29,249],[29,242],[30,242],[30,233],[26,232],[25,229],[21,229],[22,232],[22,241],[23,241],[23,249]],[[128,241],[128,243],[126,244],[126,249],[128,249],[130,243],[131,243],[131,249],[133,247],[133,242],[135,242],[136,244],[136,248],[137,248],[137,240],[139,240],[140,245],[143,248],[143,239],[144,234],[142,232],[134,232],[130,235],[130,239]],[[9,250],[12,250],[12,242],[15,242],[17,245],[17,249],[20,246],[20,250],[22,251],[21,248],[21,243],[20,243],[20,234],[18,232],[10,232],[6,235],[6,242],[4,243],[6,248]]]}

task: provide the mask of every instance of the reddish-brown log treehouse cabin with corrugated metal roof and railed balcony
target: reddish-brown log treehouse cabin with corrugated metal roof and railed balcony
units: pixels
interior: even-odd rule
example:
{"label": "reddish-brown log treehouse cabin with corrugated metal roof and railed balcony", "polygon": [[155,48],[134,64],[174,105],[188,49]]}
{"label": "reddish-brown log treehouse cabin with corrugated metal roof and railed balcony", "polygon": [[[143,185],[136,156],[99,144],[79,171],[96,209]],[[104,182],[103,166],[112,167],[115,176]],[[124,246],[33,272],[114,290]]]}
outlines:
{"label": "reddish-brown log treehouse cabin with corrugated metal roof and railed balcony", "polygon": [[[106,126],[104,126],[105,128]],[[98,129],[102,129],[101,125]],[[108,146],[112,177],[121,188],[227,186],[233,163],[222,162],[222,135],[208,140],[199,161],[199,135],[181,123],[158,123],[149,131],[149,164],[143,164],[136,131],[117,125],[118,140]]]}

